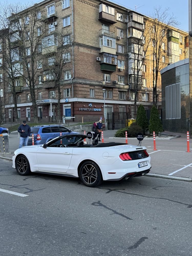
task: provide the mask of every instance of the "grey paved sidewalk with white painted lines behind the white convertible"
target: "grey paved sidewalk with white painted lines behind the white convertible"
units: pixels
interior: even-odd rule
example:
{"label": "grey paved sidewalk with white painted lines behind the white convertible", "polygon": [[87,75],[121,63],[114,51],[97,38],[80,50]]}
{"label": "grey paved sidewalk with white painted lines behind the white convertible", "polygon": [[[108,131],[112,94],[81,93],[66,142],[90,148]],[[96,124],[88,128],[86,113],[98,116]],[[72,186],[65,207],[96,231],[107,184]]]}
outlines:
{"label": "grey paved sidewalk with white painted lines behind the white convertible", "polygon": [[[110,138],[114,137],[115,132],[115,130],[104,131],[104,142],[114,141],[125,143],[125,138]],[[128,138],[128,143],[138,145],[138,141],[135,138]],[[18,133],[10,133],[9,149],[11,154],[5,155],[5,157],[11,159],[18,145]],[[192,146],[192,139],[190,139],[190,145]],[[166,175],[165,177],[168,178],[182,177],[183,179],[192,179],[192,148],[190,148],[190,153],[186,152],[187,139],[185,137],[179,137],[173,140],[156,140],[156,151],[153,150],[152,138],[144,139],[142,146],[147,147],[147,152],[151,156],[152,168],[150,174]],[[1,154],[0,157],[2,156]]]}

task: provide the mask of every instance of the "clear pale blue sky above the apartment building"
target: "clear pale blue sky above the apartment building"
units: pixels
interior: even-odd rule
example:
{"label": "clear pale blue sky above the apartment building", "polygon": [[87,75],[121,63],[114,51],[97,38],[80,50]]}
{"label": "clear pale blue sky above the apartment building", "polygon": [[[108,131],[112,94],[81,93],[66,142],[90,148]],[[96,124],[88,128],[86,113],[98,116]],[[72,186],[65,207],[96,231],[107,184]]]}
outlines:
{"label": "clear pale blue sky above the apartment building", "polygon": [[[8,0],[9,3],[20,2],[26,3],[26,0]],[[30,2],[30,1],[29,1]],[[37,1],[34,1],[35,3]],[[152,0],[136,0],[136,1],[126,1],[126,0],[118,0],[115,1],[117,3],[123,4],[129,8],[135,9],[135,5],[137,5],[137,11],[143,14],[147,14],[150,16],[150,13],[153,12],[153,7],[156,5],[161,5],[164,9],[165,7],[170,7],[169,13],[170,15],[174,15],[177,17],[180,25],[178,26],[180,29],[188,31],[188,1],[178,1],[178,0],[161,0],[161,1],[152,1]],[[142,6],[143,5],[143,6]]]}

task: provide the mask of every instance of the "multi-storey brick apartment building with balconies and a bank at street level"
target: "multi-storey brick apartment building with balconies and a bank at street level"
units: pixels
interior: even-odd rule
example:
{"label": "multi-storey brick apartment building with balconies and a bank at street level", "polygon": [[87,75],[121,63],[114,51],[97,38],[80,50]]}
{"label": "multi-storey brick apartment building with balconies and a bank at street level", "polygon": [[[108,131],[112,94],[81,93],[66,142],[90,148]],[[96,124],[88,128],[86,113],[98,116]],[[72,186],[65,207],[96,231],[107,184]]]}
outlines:
{"label": "multi-storey brick apartment building with balconies and a bank at street level", "polygon": [[[104,0],[45,0],[36,6],[40,10],[38,18],[42,22],[42,27],[37,29],[48,29],[38,49],[39,56],[47,56],[48,67],[51,61],[54,65],[54,52],[59,47],[57,31],[64,29],[68,33],[63,47],[70,46],[70,63],[63,68],[60,80],[60,120],[63,116],[68,120],[74,120],[71,119],[74,117],[75,121],[81,120],[82,116],[84,120],[98,120],[100,117],[104,119],[104,98],[106,117],[109,112],[126,112],[128,106],[133,104],[134,97],[137,97],[138,102],[152,101],[153,59],[146,57],[144,60],[139,74],[140,85],[137,95],[134,95],[135,74],[132,67],[135,62],[130,47],[132,38],[138,37],[146,24],[153,23],[150,17]],[[30,17],[28,21],[30,23]],[[162,45],[162,67],[188,57],[187,32],[169,27],[164,36],[166,41]],[[150,36],[145,40],[143,38],[141,44],[144,45],[147,40],[150,40]],[[4,61],[3,45],[4,42],[1,41],[0,65]],[[153,45],[149,46],[149,52],[152,47]],[[20,63],[22,68],[22,56],[19,56],[19,50],[15,52],[14,61]],[[27,55],[30,66],[30,50]],[[53,78],[45,65],[40,65],[37,69],[35,95],[38,119],[45,122],[56,121],[58,88],[50,83]],[[157,88],[158,100],[161,101],[160,75]],[[14,121],[13,90],[1,67],[0,93],[6,121]],[[19,119],[32,121],[34,115],[30,90],[22,72],[15,76],[15,93]]]}

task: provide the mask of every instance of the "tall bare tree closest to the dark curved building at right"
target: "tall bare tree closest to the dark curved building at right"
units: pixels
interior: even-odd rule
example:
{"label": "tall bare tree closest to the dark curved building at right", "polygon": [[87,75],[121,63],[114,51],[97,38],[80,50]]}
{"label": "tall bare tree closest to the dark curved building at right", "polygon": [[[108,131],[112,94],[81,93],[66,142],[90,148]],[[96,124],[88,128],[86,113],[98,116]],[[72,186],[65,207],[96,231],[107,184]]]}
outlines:
{"label": "tall bare tree closest to the dark curved building at right", "polygon": [[[165,67],[162,57],[165,56],[163,44],[167,44],[168,29],[170,27],[178,26],[178,22],[173,15],[169,15],[169,9],[166,7],[162,9],[161,6],[154,7],[154,12],[150,15],[152,20],[152,26],[150,31],[150,37],[152,42],[152,59],[153,59],[153,102],[157,101],[157,81],[160,70]],[[173,29],[173,28],[171,28]],[[176,29],[177,30],[177,29]]]}

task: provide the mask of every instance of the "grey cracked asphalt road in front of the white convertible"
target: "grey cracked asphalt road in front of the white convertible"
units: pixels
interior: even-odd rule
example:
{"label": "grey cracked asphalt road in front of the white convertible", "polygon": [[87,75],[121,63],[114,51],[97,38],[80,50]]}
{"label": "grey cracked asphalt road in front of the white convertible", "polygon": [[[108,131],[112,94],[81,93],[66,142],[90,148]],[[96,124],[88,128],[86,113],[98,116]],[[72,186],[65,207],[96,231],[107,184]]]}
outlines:
{"label": "grey cracked asphalt road in front of the white convertible", "polygon": [[192,255],[191,182],[137,177],[88,188],[19,176],[4,159],[0,177],[1,256]]}

